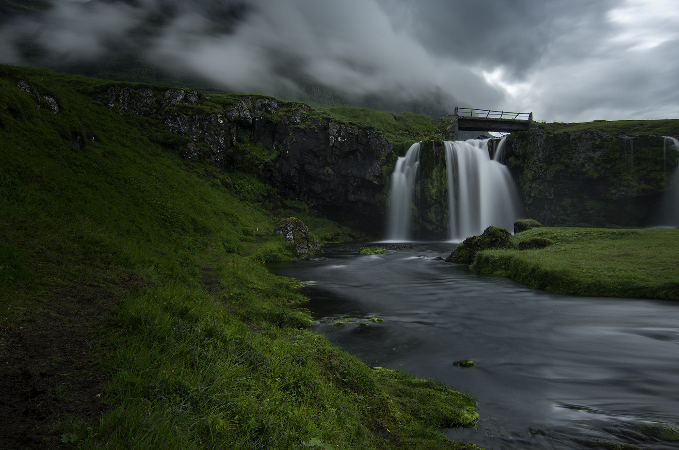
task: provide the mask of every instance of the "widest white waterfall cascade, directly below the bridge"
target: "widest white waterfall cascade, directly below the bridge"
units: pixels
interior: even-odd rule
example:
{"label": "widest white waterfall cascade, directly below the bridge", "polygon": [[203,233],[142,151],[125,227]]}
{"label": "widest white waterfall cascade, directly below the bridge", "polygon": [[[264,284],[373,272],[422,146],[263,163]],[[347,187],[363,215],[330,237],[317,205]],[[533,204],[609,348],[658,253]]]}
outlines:
{"label": "widest white waterfall cascade, directly below the bridge", "polygon": [[477,236],[490,225],[511,230],[519,217],[519,197],[509,168],[490,159],[488,140],[444,143],[450,240]]}

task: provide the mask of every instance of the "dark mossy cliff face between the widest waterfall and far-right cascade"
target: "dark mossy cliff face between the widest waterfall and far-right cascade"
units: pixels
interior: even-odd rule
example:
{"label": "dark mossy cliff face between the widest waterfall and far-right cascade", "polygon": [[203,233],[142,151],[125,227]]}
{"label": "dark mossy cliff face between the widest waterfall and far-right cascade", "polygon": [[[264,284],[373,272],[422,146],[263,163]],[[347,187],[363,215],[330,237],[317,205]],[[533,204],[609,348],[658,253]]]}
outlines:
{"label": "dark mossy cliff face between the widest waterfall and far-right cascade", "polygon": [[550,226],[644,226],[676,167],[676,150],[665,148],[663,136],[518,132],[504,154],[527,217]]}

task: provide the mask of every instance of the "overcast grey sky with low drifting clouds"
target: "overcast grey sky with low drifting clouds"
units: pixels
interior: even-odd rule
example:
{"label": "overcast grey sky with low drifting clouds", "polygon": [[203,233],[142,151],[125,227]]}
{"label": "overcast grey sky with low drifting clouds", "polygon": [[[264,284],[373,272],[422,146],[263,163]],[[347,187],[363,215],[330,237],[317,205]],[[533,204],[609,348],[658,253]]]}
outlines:
{"label": "overcast grey sky with low drifting clouds", "polygon": [[[293,92],[305,79],[450,109],[538,121],[679,118],[677,0],[58,0],[41,22],[0,30],[0,62],[27,33],[87,60],[173,11],[141,49],[168,71],[237,92]],[[115,43],[115,44],[113,44]]]}

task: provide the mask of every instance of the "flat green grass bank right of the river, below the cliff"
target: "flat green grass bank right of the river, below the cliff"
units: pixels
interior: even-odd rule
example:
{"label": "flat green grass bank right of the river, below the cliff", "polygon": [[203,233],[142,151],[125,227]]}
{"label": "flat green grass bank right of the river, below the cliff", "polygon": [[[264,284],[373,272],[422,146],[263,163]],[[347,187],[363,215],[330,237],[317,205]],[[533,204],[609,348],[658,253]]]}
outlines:
{"label": "flat green grass bank right of the river, below the cliff", "polygon": [[471,265],[554,293],[679,299],[679,229],[536,228],[513,244],[547,238],[538,250],[485,250]]}

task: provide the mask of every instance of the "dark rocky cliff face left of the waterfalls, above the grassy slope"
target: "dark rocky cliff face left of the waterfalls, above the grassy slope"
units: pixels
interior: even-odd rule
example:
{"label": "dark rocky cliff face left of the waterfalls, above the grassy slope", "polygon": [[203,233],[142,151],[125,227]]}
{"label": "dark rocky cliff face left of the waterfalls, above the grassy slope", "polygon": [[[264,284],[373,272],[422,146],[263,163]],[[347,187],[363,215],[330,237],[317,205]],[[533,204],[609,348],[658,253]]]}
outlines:
{"label": "dark rocky cliff face left of the waterfalls, above the grassy slope", "polygon": [[189,161],[245,170],[331,219],[383,229],[384,166],[392,144],[372,128],[313,115],[307,105],[261,96],[213,101],[193,90],[113,85],[100,101],[120,113],[159,115]]}

